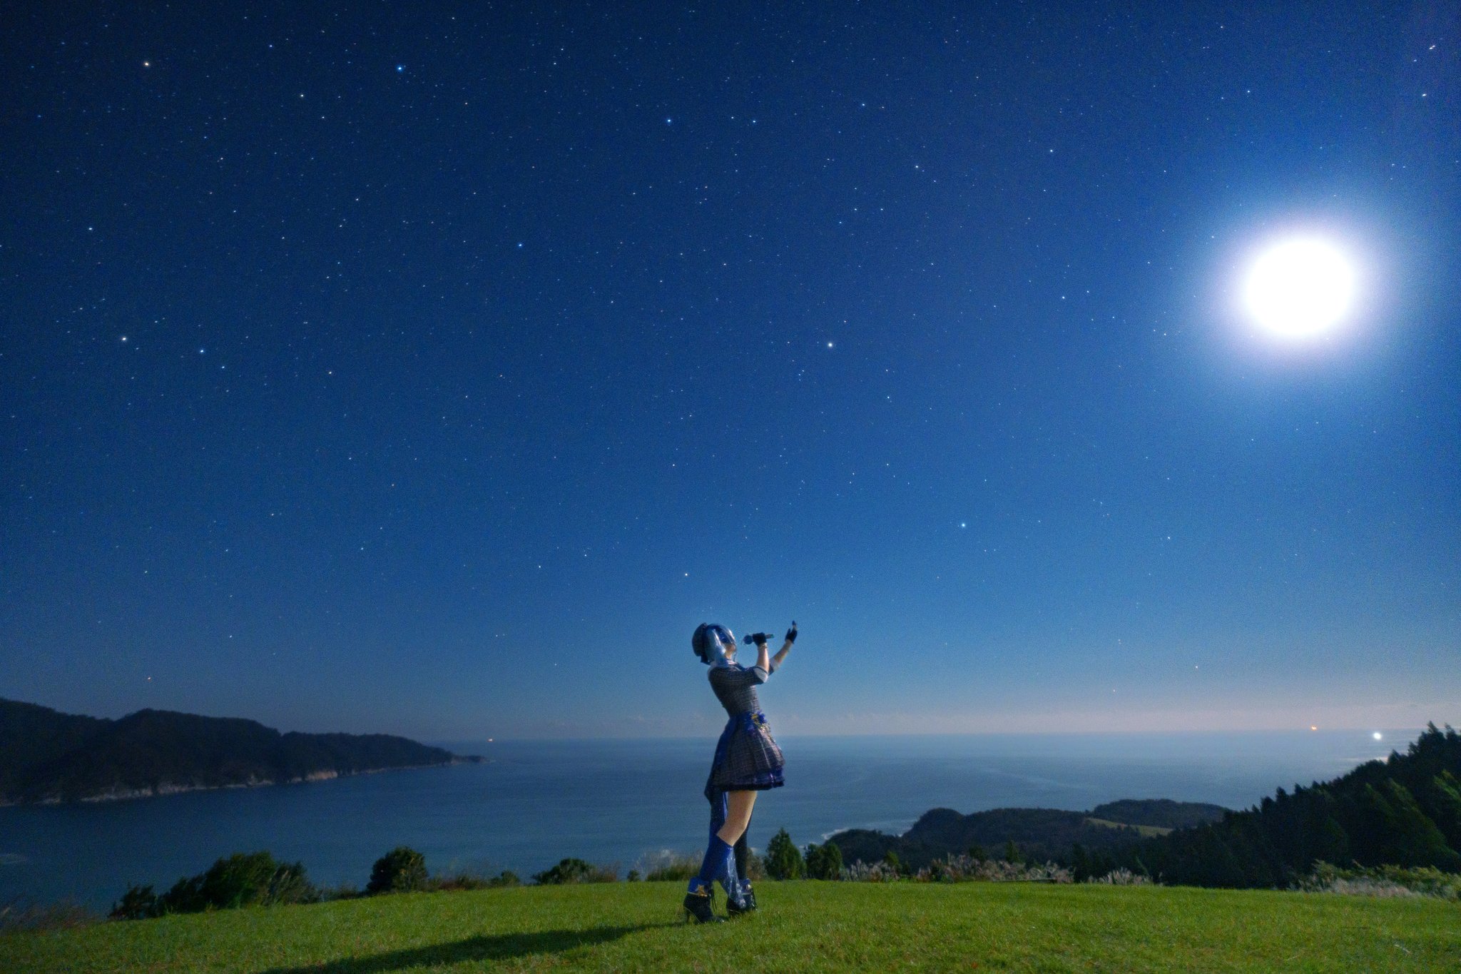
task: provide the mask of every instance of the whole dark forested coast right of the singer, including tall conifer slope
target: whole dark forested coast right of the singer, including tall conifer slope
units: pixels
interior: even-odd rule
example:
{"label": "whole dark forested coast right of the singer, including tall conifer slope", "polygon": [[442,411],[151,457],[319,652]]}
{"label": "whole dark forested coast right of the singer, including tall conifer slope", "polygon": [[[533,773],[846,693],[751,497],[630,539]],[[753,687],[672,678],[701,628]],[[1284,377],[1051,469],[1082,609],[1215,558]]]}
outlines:
{"label": "whole dark forested coast right of the singer, including tall conifer slope", "polygon": [[918,869],[948,856],[1005,854],[1069,866],[1077,879],[1125,867],[1191,886],[1289,888],[1318,863],[1455,873],[1461,872],[1461,735],[1429,724],[1405,753],[1392,752],[1331,781],[1280,787],[1240,812],[1134,800],[1090,812],[934,809],[903,835],[850,829],[830,841],[849,863],[893,853]]}

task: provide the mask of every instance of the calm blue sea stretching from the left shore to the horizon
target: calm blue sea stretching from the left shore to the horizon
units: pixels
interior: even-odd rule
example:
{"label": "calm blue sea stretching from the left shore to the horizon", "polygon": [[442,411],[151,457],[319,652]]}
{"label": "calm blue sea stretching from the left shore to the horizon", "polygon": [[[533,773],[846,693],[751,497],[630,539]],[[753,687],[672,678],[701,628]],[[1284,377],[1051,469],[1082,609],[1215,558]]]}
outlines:
{"label": "calm blue sea stretching from the left shore to the horizon", "polygon": [[[760,796],[751,844],[843,828],[901,832],[931,808],[1084,810],[1169,797],[1248,808],[1277,787],[1344,774],[1419,730],[1185,735],[785,737],[786,787]],[[565,856],[643,869],[704,848],[714,737],[441,742],[487,764],[130,802],[0,808],[0,904],[108,908],[129,883],[165,889],[234,851],[301,860],[313,881],[364,886],[411,845],[432,872],[511,869]]]}

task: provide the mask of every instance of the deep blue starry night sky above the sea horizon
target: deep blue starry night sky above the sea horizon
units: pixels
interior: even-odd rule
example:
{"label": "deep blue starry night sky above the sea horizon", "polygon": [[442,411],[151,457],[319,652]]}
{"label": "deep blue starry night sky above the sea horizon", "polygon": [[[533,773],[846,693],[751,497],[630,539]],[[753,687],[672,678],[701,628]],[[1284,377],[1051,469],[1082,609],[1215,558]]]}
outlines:
{"label": "deep blue starry night sky above the sea horizon", "polygon": [[1461,4],[1267,6],[19,4],[0,695],[1461,723]]}

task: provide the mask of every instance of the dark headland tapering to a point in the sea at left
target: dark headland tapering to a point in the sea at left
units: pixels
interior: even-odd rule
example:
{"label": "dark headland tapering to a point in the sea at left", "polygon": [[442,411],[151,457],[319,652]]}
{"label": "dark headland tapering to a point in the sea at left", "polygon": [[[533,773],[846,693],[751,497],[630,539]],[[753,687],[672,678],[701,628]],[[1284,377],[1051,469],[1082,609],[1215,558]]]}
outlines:
{"label": "dark headland tapering to a point in the sea at left", "polygon": [[279,733],[139,710],[118,720],[0,699],[0,803],[145,797],[479,761],[389,735]]}

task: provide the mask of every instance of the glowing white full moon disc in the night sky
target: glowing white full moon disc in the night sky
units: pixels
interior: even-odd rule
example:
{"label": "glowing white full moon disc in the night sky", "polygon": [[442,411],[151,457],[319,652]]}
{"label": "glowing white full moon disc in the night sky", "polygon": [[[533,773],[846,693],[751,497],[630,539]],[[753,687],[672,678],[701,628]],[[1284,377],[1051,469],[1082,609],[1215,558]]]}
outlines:
{"label": "glowing white full moon disc in the night sky", "polygon": [[1243,302],[1262,327],[1283,337],[1321,334],[1349,312],[1354,267],[1331,242],[1296,237],[1262,251],[1243,282]]}

